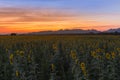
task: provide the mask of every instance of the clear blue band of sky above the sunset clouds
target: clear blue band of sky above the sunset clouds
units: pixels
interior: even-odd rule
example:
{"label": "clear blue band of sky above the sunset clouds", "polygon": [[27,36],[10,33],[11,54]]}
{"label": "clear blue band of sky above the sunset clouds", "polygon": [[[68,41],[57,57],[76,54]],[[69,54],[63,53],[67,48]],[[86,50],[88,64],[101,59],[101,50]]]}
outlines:
{"label": "clear blue band of sky above the sunset clouds", "polygon": [[120,0],[0,0],[2,6],[70,8],[84,12],[120,13]]}

